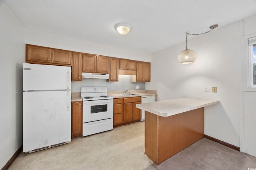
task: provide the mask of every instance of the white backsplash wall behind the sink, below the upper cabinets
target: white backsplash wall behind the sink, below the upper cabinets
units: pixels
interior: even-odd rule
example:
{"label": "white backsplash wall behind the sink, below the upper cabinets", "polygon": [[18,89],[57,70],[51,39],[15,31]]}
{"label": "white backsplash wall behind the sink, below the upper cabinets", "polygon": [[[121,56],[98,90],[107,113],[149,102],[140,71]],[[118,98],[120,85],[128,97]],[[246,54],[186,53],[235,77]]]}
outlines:
{"label": "white backsplash wall behind the sink, below the upper cabinets", "polygon": [[[106,82],[108,91],[116,90],[145,90],[145,82],[132,82],[130,75],[118,75],[118,82]],[[136,89],[136,86],[140,86]]]}

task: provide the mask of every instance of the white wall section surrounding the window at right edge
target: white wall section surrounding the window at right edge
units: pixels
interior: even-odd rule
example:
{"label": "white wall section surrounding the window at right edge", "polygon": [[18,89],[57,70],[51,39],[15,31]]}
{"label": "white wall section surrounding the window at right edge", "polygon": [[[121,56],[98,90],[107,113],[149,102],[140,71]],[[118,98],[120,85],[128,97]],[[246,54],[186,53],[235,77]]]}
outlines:
{"label": "white wall section surrounding the window at right edge", "polygon": [[256,16],[251,16],[243,21],[244,35],[244,87],[243,87],[243,121],[241,123],[241,147],[242,152],[256,156],[256,89],[249,89],[247,80],[247,61],[248,55],[246,46],[248,38],[256,36]]}

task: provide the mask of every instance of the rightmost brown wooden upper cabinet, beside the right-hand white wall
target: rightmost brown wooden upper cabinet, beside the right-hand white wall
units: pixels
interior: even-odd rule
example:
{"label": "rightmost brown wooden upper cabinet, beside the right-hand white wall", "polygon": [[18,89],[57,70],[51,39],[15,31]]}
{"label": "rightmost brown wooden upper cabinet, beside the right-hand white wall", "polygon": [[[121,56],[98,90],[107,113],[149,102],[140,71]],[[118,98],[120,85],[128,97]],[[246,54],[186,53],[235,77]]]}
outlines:
{"label": "rightmost brown wooden upper cabinet, beside the right-hand white wall", "polygon": [[150,82],[150,63],[137,61],[137,82]]}

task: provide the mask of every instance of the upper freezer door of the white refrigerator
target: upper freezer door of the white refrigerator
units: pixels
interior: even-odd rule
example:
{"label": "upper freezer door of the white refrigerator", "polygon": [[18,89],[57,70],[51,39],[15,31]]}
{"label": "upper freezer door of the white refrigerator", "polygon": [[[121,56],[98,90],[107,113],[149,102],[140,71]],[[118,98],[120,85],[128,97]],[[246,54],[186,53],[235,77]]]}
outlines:
{"label": "upper freezer door of the white refrigerator", "polygon": [[70,66],[23,63],[23,91],[71,90]]}

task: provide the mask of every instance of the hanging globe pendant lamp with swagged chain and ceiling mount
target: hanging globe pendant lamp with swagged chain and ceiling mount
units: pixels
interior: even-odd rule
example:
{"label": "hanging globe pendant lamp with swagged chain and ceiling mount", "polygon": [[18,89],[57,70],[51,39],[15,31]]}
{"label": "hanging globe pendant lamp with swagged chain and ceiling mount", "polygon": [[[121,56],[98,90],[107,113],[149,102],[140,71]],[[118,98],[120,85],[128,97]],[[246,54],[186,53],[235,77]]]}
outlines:
{"label": "hanging globe pendant lamp with swagged chain and ceiling mount", "polygon": [[[212,31],[212,29],[218,27],[218,24],[212,25],[210,26],[210,31]],[[208,33],[210,31],[207,31],[205,33]],[[188,35],[201,35],[201,34],[205,34],[205,33],[200,33],[200,34],[190,34],[190,33],[186,33],[186,49],[182,52],[180,52],[179,56],[178,56],[178,61],[182,64],[189,64],[189,63],[193,63],[196,60],[196,52],[194,52],[193,50],[188,49]]]}

